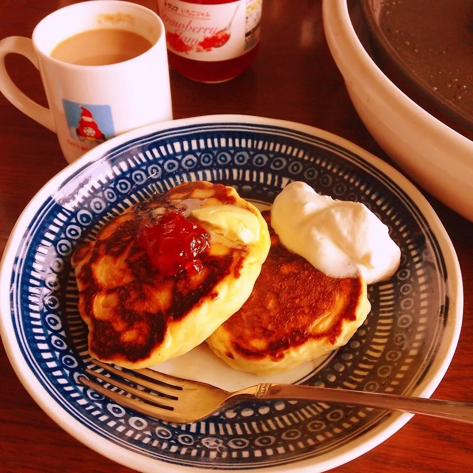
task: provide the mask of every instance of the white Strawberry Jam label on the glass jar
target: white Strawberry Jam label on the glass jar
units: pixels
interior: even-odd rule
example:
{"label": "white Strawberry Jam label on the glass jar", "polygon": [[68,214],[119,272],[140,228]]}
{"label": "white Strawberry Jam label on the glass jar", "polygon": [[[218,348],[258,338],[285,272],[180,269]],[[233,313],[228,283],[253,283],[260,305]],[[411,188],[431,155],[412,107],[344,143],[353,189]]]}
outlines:
{"label": "white Strawberry Jam label on the glass jar", "polygon": [[259,41],[263,0],[202,5],[158,0],[169,51],[197,61],[242,56]]}

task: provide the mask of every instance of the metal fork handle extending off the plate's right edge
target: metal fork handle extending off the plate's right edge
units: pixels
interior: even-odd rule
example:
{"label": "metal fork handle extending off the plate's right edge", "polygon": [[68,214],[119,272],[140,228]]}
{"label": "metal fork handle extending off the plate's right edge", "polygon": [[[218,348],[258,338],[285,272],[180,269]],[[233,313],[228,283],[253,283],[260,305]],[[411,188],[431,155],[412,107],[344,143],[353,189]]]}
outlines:
{"label": "metal fork handle extending off the plate's right edge", "polygon": [[317,388],[293,384],[259,384],[256,390],[259,399],[301,399],[364,405],[387,410],[424,414],[442,419],[458,420],[473,424],[473,404],[440,399],[415,398],[395,394],[369,393],[346,389]]}

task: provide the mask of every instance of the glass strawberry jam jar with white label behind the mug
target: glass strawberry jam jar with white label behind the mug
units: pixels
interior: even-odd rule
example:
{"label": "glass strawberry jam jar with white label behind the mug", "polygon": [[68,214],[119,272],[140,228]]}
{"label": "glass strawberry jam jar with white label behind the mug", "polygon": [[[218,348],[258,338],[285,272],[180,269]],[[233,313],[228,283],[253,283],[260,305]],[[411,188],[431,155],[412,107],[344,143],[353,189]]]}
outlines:
{"label": "glass strawberry jam jar with white label behind the mug", "polygon": [[250,67],[258,54],[263,0],[157,0],[169,66],[217,83]]}

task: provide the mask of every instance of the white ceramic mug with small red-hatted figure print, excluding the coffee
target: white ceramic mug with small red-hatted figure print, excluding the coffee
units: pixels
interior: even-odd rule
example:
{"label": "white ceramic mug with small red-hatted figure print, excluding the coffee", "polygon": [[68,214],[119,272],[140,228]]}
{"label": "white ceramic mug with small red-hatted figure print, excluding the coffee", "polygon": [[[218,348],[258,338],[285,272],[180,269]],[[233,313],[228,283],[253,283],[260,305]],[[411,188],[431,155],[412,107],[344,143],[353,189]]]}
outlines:
{"label": "white ceramic mug with small red-hatted figure print, excluding the coffee", "polygon": [[[51,58],[57,44],[98,28],[138,33],[152,47],[122,63],[76,66]],[[23,94],[5,69],[5,56],[26,56],[39,69],[49,108]],[[120,0],[93,0],[66,6],[42,19],[32,39],[0,41],[0,91],[41,125],[58,135],[71,163],[104,139],[141,125],[171,120],[172,107],[166,35],[152,10]]]}

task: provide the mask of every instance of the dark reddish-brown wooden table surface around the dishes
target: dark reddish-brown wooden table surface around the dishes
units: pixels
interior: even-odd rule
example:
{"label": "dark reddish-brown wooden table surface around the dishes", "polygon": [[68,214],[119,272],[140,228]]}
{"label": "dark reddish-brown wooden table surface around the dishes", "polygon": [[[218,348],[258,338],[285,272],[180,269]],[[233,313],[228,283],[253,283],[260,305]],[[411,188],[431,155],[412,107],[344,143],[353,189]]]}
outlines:
{"label": "dark reddish-brown wooden table surface around the dishes", "polygon": [[[141,2],[155,9],[153,1]],[[0,37],[31,37],[41,18],[69,1],[0,3]],[[46,104],[39,74],[26,59],[11,55],[7,66],[22,90]],[[330,56],[321,0],[265,0],[260,53],[250,70],[219,85],[194,83],[171,72],[171,87],[175,118],[241,113],[292,120],[343,136],[389,161],[358,118]],[[0,253],[22,209],[65,165],[55,135],[0,95]],[[452,239],[465,288],[460,341],[435,396],[473,401],[473,224],[424,194]],[[133,471],[85,447],[43,413],[3,348],[0,366],[0,472]],[[333,471],[460,473],[472,465],[471,426],[415,416],[390,439]]]}

